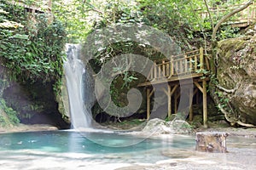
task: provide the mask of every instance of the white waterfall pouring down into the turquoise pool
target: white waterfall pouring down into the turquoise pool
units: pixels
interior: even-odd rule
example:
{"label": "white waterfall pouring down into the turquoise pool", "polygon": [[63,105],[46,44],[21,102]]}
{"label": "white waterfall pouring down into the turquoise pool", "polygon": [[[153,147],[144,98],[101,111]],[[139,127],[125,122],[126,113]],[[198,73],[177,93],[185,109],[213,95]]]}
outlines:
{"label": "white waterfall pouring down into the turquoise pool", "polygon": [[[67,61],[64,63],[65,76],[67,80],[67,91],[71,113],[72,126],[75,129],[91,127],[91,99],[89,99],[92,89],[90,88],[91,80],[88,80],[89,73],[85,69],[83,61],[80,59],[80,46],[67,44]],[[84,92],[86,94],[84,94]],[[85,105],[86,103],[86,105]]]}

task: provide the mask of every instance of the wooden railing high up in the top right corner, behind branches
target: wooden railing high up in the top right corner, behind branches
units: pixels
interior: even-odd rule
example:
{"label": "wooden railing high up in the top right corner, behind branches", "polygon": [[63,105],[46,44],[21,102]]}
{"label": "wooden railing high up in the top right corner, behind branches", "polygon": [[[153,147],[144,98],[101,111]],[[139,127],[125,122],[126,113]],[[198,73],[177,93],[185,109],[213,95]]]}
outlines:
{"label": "wooden railing high up in the top right corner, behind branches", "polygon": [[[209,11],[211,14],[213,14],[213,17],[224,16],[224,14],[231,12],[236,8],[240,8],[242,5],[244,4],[231,5],[227,7],[218,6],[215,8],[209,8]],[[207,11],[202,11],[201,9],[198,9],[197,11],[200,14],[201,20],[209,18],[209,14]],[[224,24],[236,25],[239,23],[245,23],[247,26],[254,21],[256,21],[256,3],[253,3],[252,5],[248,6],[247,8],[236,14],[234,17],[231,17],[229,20],[224,22]]]}

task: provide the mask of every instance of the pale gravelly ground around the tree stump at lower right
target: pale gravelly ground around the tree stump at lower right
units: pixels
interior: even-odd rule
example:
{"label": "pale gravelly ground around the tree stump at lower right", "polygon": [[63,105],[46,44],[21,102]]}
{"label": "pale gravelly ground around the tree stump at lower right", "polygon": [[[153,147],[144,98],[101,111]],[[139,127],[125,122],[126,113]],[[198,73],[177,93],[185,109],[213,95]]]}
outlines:
{"label": "pale gravelly ground around the tree stump at lower right", "polygon": [[226,132],[228,153],[207,153],[191,150],[166,150],[170,157],[153,165],[132,165],[116,170],[254,170],[256,169],[256,128],[199,128],[196,132]]}

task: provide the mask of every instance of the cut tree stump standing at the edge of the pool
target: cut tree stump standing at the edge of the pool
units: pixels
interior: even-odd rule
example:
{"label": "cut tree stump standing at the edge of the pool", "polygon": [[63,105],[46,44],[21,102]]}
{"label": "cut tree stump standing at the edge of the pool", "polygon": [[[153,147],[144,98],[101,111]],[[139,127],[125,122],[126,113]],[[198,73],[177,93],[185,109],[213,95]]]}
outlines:
{"label": "cut tree stump standing at the edge of the pool", "polygon": [[224,132],[201,132],[196,133],[195,150],[205,152],[227,152],[226,137],[229,133]]}

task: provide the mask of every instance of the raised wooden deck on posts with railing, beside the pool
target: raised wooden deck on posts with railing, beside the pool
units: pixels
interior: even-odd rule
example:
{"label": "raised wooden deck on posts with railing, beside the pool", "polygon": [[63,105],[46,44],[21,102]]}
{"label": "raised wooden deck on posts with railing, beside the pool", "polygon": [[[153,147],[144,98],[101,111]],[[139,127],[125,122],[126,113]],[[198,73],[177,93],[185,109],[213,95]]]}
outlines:
{"label": "raised wooden deck on posts with railing, beside the pool", "polygon": [[[207,125],[207,71],[209,70],[209,61],[207,55],[204,54],[203,48],[171,56],[169,59],[154,61],[154,65],[149,71],[147,82],[138,85],[138,87],[145,87],[147,90],[147,119],[150,118],[150,100],[154,94],[153,84],[167,82],[168,87],[167,89],[163,88],[163,91],[168,98],[168,117],[170,117],[172,113],[177,113],[177,100],[180,97],[180,94],[178,94],[179,81],[192,79],[195,85],[193,95],[201,92],[203,96],[203,122],[204,125]],[[172,99],[174,100],[173,102]],[[174,103],[174,106],[172,106],[172,103]],[[189,120],[193,120],[192,108],[189,111]]]}

